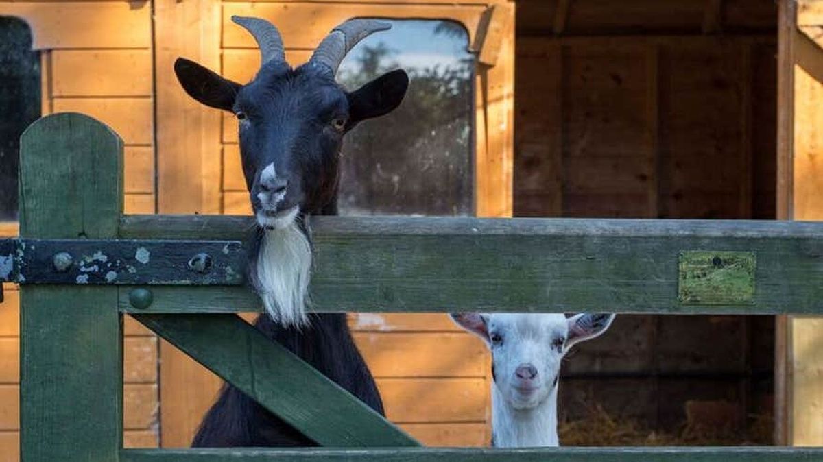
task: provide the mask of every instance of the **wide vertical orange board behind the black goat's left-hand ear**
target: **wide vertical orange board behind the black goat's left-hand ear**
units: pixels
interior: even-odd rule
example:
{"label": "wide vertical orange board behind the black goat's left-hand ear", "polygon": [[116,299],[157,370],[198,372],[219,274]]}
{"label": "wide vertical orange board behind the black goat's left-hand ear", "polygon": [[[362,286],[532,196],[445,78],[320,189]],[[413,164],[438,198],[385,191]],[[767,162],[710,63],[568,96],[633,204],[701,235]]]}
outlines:
{"label": "wide vertical orange board behind the black goat's left-hand ear", "polygon": [[[154,2],[157,118],[157,206],[160,213],[221,212],[220,112],[194,101],[172,71],[180,56],[220,70],[219,0]],[[160,343],[160,440],[189,446],[219,381]]]}

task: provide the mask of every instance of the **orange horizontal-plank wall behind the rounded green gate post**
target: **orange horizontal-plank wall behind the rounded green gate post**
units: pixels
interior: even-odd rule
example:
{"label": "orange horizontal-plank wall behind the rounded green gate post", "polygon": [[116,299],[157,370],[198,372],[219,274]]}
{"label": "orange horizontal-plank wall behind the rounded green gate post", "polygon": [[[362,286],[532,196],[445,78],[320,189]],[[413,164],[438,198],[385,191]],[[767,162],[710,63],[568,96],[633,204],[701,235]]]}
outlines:
{"label": "orange horizontal-plank wall behind the rounded green gate post", "polygon": [[[155,211],[150,12],[148,2],[0,2],[0,15],[19,16],[32,29],[43,114],[87,113],[123,137],[127,213]],[[16,289],[6,290],[0,305],[2,461],[19,457],[19,306]],[[156,338],[133,320],[125,333],[125,444],[157,446]]]}

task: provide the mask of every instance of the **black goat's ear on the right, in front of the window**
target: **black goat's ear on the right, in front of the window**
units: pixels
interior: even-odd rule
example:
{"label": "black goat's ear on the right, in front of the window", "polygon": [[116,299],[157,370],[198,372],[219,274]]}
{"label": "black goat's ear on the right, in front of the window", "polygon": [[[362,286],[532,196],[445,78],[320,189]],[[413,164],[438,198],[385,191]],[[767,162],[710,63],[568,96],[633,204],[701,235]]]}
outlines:
{"label": "black goat's ear on the right, in front of the window", "polygon": [[346,130],[367,118],[380,117],[396,109],[406,95],[409,76],[398,69],[377,77],[348,94],[349,122]]}

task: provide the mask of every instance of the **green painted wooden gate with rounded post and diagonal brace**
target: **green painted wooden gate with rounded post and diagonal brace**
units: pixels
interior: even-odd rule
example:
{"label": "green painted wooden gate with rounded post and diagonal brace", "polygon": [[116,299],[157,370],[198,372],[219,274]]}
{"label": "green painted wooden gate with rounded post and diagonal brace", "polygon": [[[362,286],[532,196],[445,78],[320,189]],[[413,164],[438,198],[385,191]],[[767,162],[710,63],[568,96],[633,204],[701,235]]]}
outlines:
{"label": "green painted wooden gate with rounded post and diagonal brace", "polygon": [[[823,460],[814,448],[428,449],[235,312],[250,217],[123,215],[123,143],[55,114],[21,139],[21,456],[44,460]],[[823,224],[312,219],[319,311],[823,314]],[[323,448],[123,449],[123,313]]]}

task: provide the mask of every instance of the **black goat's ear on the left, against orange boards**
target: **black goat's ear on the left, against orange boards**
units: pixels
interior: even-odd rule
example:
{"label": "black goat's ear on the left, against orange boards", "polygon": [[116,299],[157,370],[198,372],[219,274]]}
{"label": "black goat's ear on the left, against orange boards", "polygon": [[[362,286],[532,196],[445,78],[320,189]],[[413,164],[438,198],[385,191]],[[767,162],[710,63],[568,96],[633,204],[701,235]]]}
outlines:
{"label": "black goat's ear on the left, against orange boards", "polygon": [[230,111],[241,86],[186,58],[174,61],[174,74],[189,96],[212,108]]}

